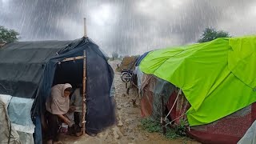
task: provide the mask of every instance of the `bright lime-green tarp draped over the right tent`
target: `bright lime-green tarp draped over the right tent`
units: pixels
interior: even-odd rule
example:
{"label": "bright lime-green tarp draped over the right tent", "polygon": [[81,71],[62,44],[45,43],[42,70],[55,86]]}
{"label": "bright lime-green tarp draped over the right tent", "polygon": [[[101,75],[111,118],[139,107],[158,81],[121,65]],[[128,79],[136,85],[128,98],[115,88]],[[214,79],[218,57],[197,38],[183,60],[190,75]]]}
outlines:
{"label": "bright lime-green tarp draped over the right tent", "polygon": [[139,65],[182,89],[190,126],[214,122],[256,102],[256,36],[154,50]]}

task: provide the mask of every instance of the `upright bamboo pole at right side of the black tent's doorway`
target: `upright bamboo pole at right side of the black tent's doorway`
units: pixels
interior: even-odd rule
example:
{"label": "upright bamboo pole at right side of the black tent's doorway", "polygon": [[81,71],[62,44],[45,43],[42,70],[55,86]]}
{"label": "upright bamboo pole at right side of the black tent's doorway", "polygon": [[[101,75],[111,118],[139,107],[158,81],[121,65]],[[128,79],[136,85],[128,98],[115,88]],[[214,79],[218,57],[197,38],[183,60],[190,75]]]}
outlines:
{"label": "upright bamboo pole at right side of the black tent's doorway", "polygon": [[86,134],[86,50],[83,51],[83,78],[82,78],[82,134]]}

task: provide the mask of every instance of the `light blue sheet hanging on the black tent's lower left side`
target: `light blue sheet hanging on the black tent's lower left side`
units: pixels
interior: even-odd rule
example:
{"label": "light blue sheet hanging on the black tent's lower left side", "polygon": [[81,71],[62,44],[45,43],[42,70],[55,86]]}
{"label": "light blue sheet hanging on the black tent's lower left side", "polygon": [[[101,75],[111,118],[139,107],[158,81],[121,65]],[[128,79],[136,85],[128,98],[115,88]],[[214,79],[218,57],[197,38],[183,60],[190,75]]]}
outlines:
{"label": "light blue sheet hanging on the black tent's lower left side", "polygon": [[34,124],[31,120],[31,108],[34,99],[13,97],[8,106],[10,122],[15,130],[33,134]]}

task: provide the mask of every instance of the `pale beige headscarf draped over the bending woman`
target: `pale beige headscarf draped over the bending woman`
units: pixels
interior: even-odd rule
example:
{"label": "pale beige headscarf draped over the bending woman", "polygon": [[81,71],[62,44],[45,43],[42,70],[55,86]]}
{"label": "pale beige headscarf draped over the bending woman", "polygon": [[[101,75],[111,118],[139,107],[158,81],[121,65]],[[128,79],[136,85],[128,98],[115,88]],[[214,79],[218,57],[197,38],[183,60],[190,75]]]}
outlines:
{"label": "pale beige headscarf draped over the bending woman", "polygon": [[51,114],[66,114],[69,110],[70,98],[64,96],[66,88],[72,88],[72,86],[66,83],[51,88],[50,98],[46,100],[46,110]]}

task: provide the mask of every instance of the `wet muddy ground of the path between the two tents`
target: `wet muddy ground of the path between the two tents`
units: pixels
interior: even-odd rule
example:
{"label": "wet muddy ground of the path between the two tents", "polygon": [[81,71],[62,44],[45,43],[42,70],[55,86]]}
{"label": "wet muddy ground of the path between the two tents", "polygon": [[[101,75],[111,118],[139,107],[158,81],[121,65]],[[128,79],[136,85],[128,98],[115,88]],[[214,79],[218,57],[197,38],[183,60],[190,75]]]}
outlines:
{"label": "wet muddy ground of the path between the two tents", "polygon": [[[120,61],[110,61],[110,65],[115,70],[115,66]],[[66,144],[82,144],[82,143],[198,143],[193,140],[175,139],[170,140],[164,138],[162,134],[148,133],[142,130],[139,101],[134,106],[132,99],[137,96],[135,90],[130,90],[130,94],[126,94],[126,85],[120,78],[120,73],[115,72],[115,100],[117,102],[117,125],[102,131],[95,137],[84,135],[81,137],[72,137],[62,135],[61,140]]]}

